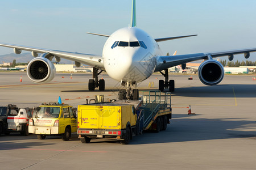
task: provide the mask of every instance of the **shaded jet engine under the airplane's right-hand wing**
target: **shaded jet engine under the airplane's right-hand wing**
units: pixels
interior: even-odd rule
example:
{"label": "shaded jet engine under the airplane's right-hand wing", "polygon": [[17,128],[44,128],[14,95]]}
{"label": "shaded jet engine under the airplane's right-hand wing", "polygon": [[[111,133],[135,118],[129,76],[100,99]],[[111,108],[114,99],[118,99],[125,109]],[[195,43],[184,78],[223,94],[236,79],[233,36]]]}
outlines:
{"label": "shaded jet engine under the airplane's right-hand wing", "polygon": [[213,86],[221,82],[224,78],[224,67],[220,62],[209,59],[199,66],[199,79],[208,86]]}

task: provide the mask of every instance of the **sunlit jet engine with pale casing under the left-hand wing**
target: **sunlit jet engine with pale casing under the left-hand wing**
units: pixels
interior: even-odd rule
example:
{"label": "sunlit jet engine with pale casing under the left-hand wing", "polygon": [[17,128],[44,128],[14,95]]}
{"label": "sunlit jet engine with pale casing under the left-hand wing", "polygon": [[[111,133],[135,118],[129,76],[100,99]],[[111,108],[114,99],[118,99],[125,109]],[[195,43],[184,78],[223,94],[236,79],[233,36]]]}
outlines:
{"label": "sunlit jet engine with pale casing under the left-hand wing", "polygon": [[55,77],[56,69],[53,63],[44,57],[36,57],[27,65],[28,78],[35,83],[47,83]]}

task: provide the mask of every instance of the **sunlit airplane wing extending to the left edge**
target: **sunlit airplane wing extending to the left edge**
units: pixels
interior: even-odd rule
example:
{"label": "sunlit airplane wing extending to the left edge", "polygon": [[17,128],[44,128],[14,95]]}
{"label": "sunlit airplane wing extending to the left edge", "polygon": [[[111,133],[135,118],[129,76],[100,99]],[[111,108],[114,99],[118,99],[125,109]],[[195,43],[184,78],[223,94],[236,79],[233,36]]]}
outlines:
{"label": "sunlit airplane wing extending to the left edge", "polygon": [[102,57],[96,56],[93,54],[64,52],[59,50],[35,48],[31,46],[14,45],[14,44],[6,44],[6,43],[0,43],[0,46],[13,48],[16,54],[20,54],[22,50],[31,52],[32,56],[34,57],[37,57],[38,53],[48,53],[47,58],[50,60],[52,60],[53,57],[55,57],[57,61],[60,61],[60,58],[65,58],[71,61],[75,61],[76,63],[84,63],[86,65],[96,67],[97,69],[105,70]]}

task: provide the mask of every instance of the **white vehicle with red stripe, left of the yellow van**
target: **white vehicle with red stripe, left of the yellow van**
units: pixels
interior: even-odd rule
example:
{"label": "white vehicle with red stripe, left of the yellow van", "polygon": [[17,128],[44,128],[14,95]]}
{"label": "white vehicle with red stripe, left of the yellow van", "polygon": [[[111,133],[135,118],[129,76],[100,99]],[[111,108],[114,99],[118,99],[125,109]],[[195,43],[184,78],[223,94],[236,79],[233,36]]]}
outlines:
{"label": "white vehicle with red stripe, left of the yellow van", "polygon": [[5,134],[11,132],[19,132],[22,135],[29,135],[28,133],[28,120],[32,117],[33,109],[24,108],[19,109],[17,112],[15,109],[10,110],[7,116],[7,130]]}

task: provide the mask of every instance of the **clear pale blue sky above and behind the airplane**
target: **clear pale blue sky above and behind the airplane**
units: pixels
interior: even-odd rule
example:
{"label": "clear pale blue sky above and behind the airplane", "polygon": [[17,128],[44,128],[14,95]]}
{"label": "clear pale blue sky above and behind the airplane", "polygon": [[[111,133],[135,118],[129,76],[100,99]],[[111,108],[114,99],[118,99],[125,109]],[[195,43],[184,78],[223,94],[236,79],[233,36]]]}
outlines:
{"label": "clear pale blue sky above and behind the airplane", "polygon": [[[137,27],[154,38],[199,35],[159,42],[164,54],[252,48],[255,7],[255,0],[137,0]],[[131,0],[0,1],[0,18],[0,42],[101,55],[107,37],[86,32],[111,35],[128,27]],[[0,55],[9,53],[13,49],[0,47]]]}

